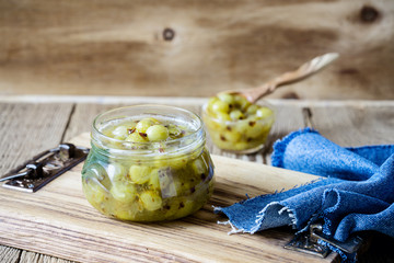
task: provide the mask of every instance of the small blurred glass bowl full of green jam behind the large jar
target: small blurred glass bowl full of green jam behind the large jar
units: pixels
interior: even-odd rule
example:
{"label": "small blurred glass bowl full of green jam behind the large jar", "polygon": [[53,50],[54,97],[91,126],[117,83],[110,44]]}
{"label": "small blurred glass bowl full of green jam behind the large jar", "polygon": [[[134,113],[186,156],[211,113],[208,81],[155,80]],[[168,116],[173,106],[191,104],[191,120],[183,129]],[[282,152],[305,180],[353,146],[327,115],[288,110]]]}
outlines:
{"label": "small blurred glass bowl full of green jam behind the large jar", "polygon": [[252,153],[264,148],[275,122],[273,106],[220,93],[202,107],[202,119],[213,144],[227,151]]}

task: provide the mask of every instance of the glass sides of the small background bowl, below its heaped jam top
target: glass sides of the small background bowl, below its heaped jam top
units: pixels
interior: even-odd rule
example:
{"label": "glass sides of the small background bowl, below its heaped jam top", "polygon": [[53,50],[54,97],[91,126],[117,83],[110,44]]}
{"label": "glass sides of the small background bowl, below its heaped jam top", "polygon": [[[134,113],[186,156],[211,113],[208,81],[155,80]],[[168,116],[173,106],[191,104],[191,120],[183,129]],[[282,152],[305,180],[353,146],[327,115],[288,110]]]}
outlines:
{"label": "glass sides of the small background bowl, below its heaped jam top", "polygon": [[213,144],[234,153],[254,153],[262,150],[274,125],[275,113],[273,106],[266,102],[258,106],[268,108],[271,114],[259,118],[229,121],[213,116],[206,103],[202,106],[202,119]]}

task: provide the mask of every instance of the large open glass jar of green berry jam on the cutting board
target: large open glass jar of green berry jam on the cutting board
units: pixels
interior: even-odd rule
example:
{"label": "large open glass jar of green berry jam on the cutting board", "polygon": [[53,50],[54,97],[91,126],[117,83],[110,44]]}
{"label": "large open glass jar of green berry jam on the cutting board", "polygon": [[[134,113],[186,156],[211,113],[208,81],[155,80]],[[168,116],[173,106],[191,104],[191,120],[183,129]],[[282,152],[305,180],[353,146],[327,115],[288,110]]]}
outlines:
{"label": "large open glass jar of green berry jam on the cutting board", "polygon": [[183,108],[137,105],[99,115],[82,169],[86,199],[120,220],[159,221],[200,209],[213,191],[201,119]]}

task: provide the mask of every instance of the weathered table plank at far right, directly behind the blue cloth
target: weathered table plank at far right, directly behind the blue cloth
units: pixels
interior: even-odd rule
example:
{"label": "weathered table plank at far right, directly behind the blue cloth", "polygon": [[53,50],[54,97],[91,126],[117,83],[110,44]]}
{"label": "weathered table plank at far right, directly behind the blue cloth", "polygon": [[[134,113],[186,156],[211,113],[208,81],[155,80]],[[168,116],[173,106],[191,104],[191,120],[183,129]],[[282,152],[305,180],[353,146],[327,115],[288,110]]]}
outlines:
{"label": "weathered table plank at far right, directly behind the blue cloth", "polygon": [[311,110],[313,127],[340,146],[394,144],[394,105],[313,106]]}

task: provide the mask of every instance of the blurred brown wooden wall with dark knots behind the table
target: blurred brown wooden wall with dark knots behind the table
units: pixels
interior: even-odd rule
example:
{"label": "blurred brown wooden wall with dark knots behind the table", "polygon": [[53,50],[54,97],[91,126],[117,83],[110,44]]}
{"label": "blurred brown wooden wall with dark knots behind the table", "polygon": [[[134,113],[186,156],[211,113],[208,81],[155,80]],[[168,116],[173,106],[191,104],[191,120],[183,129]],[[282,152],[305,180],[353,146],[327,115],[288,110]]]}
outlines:
{"label": "blurred brown wooden wall with dark knots behind the table", "polygon": [[275,98],[394,99],[391,0],[0,0],[0,94],[206,96],[327,52]]}

